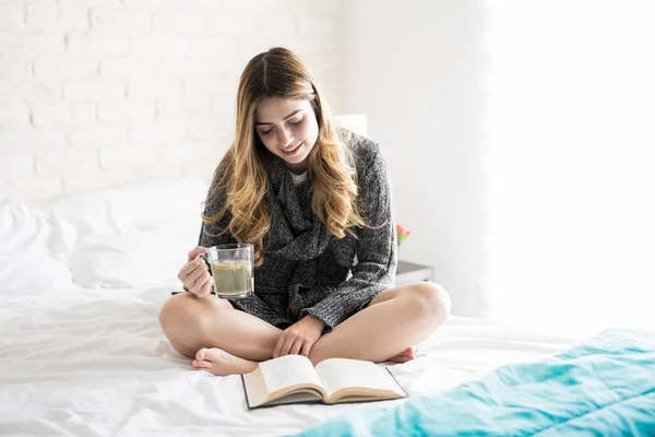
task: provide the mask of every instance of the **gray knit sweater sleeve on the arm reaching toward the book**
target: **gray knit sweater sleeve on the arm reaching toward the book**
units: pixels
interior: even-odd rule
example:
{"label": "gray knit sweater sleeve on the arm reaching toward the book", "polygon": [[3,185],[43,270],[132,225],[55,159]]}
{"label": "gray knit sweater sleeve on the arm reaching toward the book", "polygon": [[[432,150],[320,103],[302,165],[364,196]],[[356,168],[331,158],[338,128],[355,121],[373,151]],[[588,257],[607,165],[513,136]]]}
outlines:
{"label": "gray knit sweater sleeve on the arm reaching toward the book", "polygon": [[[367,160],[368,161],[368,160]],[[380,292],[394,285],[396,233],[386,164],[376,151],[359,179],[360,212],[370,227],[357,228],[357,260],[353,275],[301,317],[312,315],[334,328],[364,309]]]}

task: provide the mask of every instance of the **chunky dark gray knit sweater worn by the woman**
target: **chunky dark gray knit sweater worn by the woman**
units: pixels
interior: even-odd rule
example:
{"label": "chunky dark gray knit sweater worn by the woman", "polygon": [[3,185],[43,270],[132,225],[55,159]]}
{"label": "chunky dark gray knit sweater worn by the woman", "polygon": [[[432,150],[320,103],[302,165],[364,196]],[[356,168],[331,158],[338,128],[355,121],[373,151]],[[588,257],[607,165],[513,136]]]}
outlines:
{"label": "chunky dark gray knit sweater worn by the woman", "polygon": [[[233,300],[238,309],[282,329],[313,315],[330,330],[393,286],[396,234],[386,165],[378,144],[356,134],[352,141],[360,213],[371,227],[355,228],[358,238],[332,236],[311,210],[310,182],[294,186],[282,160],[271,155],[273,221],[263,264],[254,270],[254,296]],[[207,206],[205,214],[216,214],[222,205]],[[228,233],[218,235],[230,218],[226,214],[214,225],[203,224],[199,245],[235,243]]]}

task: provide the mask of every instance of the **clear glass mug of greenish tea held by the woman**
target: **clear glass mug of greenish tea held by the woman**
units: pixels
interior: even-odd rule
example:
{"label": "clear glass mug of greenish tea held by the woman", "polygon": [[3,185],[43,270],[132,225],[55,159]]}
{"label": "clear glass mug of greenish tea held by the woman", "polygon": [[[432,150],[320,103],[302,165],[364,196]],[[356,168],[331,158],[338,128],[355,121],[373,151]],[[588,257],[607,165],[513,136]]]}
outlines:
{"label": "clear glass mug of greenish tea held by the woman", "polygon": [[210,268],[216,296],[240,299],[254,293],[254,249],[250,244],[207,247],[201,258]]}

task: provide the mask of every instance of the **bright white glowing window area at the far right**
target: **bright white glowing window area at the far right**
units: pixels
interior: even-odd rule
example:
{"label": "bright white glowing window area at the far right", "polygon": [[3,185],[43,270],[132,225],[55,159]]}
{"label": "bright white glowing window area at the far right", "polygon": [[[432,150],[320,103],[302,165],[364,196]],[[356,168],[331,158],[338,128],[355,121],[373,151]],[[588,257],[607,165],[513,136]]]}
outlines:
{"label": "bright white glowing window area at the far right", "polygon": [[487,8],[489,316],[655,329],[655,2]]}

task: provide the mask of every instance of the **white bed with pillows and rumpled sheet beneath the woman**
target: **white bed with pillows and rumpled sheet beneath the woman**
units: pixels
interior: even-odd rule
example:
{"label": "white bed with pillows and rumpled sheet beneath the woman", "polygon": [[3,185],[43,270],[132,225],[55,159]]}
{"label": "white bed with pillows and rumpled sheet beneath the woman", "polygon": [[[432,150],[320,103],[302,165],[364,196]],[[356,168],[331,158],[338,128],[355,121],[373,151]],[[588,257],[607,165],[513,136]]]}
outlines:
{"label": "white bed with pillows and rumpled sheet beneath the woman", "polygon": [[[205,189],[165,180],[0,205],[0,435],[275,436],[367,408],[249,411],[240,377],[194,371],[166,341],[158,308],[179,288]],[[412,395],[571,343],[451,317],[392,371]]]}

